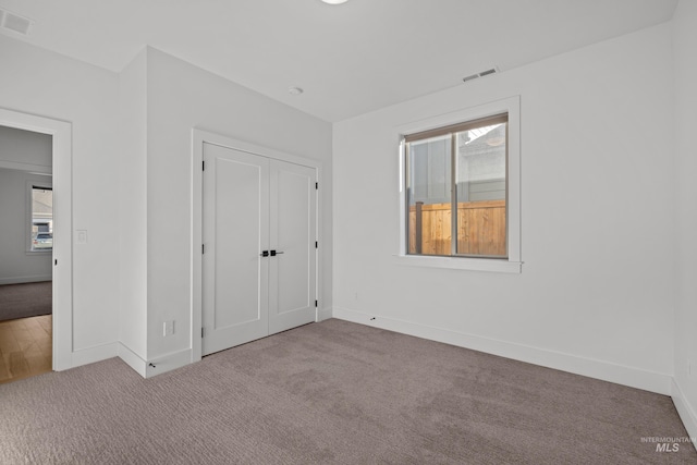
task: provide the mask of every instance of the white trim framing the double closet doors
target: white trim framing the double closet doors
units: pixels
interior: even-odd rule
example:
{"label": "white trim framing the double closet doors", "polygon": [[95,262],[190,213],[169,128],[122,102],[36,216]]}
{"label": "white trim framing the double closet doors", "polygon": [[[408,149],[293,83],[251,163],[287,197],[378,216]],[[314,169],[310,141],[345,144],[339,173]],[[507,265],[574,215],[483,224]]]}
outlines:
{"label": "white trim framing the double closet doors", "polygon": [[[276,150],[268,147],[262,147],[248,142],[239,140],[232,137],[228,137],[221,134],[211,133],[208,131],[194,127],[192,130],[192,231],[191,231],[191,347],[192,347],[192,363],[201,359],[203,338],[201,338],[201,313],[203,313],[203,257],[201,257],[201,241],[203,241],[203,228],[204,228],[204,143],[218,145],[221,147],[232,148],[234,150],[246,151],[247,154],[258,155],[261,157],[288,161],[290,163],[302,164],[305,167],[314,168],[317,172],[317,182],[321,188],[322,184],[322,163],[321,161],[310,158],[298,157],[296,155],[286,154],[284,151]],[[317,215],[315,218],[316,237],[319,243],[317,254],[315,254],[315,298],[319,298],[322,295],[323,284],[323,269],[322,269],[322,228],[320,228],[322,221],[323,203],[320,189],[316,189],[317,195]],[[315,321],[319,321],[319,308],[315,309]]]}

